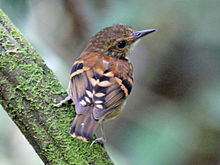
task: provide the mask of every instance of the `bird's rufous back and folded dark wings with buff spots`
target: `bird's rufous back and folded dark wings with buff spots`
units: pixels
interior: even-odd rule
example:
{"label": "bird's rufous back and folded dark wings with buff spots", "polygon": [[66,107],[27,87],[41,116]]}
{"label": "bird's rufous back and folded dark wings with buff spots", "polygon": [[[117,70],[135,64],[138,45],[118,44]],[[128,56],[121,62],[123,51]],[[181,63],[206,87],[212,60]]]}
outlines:
{"label": "bird's rufous back and folded dark wings with buff spots", "polygon": [[133,79],[130,63],[98,53],[81,56],[72,67],[70,94],[77,114],[94,106],[100,119],[118,108],[130,94]]}

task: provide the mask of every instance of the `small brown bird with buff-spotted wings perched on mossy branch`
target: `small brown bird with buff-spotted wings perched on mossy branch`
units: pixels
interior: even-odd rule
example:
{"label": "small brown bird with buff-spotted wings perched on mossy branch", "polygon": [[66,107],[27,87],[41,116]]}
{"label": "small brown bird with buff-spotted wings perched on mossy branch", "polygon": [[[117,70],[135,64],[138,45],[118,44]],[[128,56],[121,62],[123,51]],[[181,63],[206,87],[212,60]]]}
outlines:
{"label": "small brown bird with buff-spotted wings perched on mossy branch", "polygon": [[[133,67],[127,58],[132,45],[155,29],[135,31],[115,24],[94,35],[73,63],[68,96],[75,103],[76,117],[70,127],[73,137],[88,141],[98,123],[116,117],[133,86]],[[104,143],[104,136],[92,142]]]}

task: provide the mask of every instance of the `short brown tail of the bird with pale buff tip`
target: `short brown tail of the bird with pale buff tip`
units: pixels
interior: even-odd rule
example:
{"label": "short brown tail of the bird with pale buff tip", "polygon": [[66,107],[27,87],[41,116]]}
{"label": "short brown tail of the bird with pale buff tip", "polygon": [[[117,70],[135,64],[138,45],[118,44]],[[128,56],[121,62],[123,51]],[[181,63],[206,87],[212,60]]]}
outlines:
{"label": "short brown tail of the bird with pale buff tip", "polygon": [[92,113],[78,114],[70,127],[70,134],[87,142],[94,135],[97,124]]}

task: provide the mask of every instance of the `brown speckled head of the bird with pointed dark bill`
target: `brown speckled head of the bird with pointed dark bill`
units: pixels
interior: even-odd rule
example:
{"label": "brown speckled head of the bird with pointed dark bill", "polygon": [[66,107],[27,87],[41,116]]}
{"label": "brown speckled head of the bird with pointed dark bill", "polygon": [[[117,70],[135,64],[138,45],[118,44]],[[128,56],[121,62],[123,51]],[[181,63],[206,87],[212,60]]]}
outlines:
{"label": "brown speckled head of the bird with pointed dark bill", "polygon": [[134,29],[115,24],[106,27],[94,35],[86,48],[86,51],[99,52],[107,56],[126,59],[132,45],[141,37],[154,32],[155,29],[135,31]]}

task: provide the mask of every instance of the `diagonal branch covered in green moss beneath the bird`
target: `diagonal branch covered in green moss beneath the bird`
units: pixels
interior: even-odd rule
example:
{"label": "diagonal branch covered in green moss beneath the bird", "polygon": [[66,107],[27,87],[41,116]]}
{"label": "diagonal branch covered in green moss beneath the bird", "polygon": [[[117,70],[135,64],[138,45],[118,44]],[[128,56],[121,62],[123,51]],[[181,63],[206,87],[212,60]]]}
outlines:
{"label": "diagonal branch covered in green moss beneath the bird", "polygon": [[98,144],[74,139],[72,105],[54,73],[0,10],[0,104],[45,164],[113,164]]}

